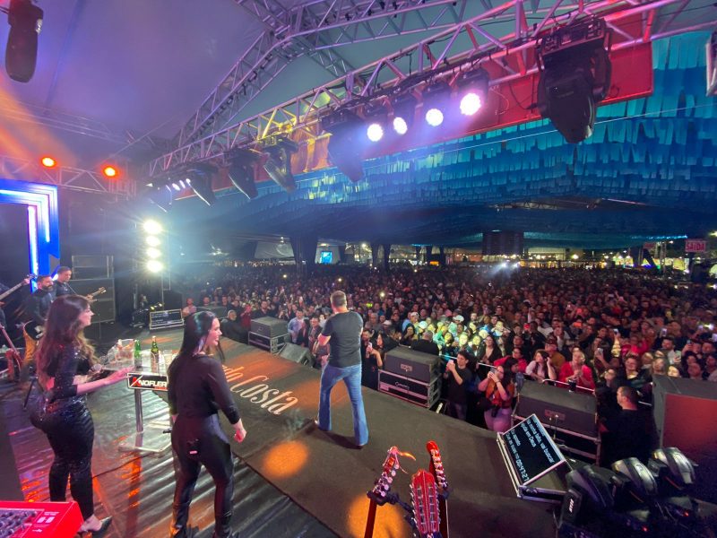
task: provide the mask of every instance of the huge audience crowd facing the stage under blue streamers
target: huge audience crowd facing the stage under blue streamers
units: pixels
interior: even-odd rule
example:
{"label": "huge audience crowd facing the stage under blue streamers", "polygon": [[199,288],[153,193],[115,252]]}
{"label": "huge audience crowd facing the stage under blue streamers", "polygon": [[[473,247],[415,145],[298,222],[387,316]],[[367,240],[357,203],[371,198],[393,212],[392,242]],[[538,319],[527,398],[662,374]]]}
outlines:
{"label": "huge audience crowd facing the stage under blue streamers", "polygon": [[717,292],[644,273],[338,266],[299,277],[275,266],[185,286],[186,313],[193,299],[227,309],[223,334],[246,341],[253,318],[278,317],[310,351],[331,293],[345,291],[364,323],[364,386],[377,388],[393,347],[440,355],[447,412],[497,431],[510,426],[523,382],[594,392],[608,422],[620,386],[649,404],[655,376],[717,381]]}

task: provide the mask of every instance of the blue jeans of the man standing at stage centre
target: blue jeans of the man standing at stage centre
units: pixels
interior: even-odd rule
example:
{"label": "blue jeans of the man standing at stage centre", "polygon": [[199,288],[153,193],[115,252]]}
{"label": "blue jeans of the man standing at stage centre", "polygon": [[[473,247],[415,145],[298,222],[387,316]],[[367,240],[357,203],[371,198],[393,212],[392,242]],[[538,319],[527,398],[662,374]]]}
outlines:
{"label": "blue jeans of the man standing at stage centre", "polygon": [[361,395],[361,365],[336,368],[327,364],[321,372],[321,393],[319,396],[319,429],[331,430],[331,389],[343,379],[349,392],[353,412],[353,434],[358,446],[368,442],[368,426],[364,400]]}

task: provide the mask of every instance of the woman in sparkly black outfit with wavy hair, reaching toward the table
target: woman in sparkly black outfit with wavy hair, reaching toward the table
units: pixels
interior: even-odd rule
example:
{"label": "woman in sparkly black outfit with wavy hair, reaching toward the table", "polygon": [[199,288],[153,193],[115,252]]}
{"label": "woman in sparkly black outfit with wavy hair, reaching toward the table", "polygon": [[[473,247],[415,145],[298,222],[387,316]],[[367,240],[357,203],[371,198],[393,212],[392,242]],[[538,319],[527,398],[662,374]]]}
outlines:
{"label": "woman in sparkly black outfit with wavy hair, reaching toward the table", "polygon": [[50,500],[65,500],[69,476],[70,491],[84,519],[80,532],[99,536],[107,530],[111,517],[99,521],[94,515],[91,459],[95,430],[84,395],[122,381],[129,369],[88,381],[94,350],[85,341],[82,329],[90,325],[91,317],[90,301],[84,297],[65,295],[55,299],[37,361],[39,385],[48,394],[47,412],[40,427],[55,453],[49,473]]}

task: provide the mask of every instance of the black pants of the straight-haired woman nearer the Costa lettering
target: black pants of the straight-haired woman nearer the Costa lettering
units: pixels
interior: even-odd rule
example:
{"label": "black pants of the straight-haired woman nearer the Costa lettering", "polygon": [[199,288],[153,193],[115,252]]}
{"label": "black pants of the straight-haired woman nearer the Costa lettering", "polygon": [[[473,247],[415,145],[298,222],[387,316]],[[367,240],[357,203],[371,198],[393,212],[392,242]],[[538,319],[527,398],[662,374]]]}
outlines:
{"label": "black pants of the straight-haired woman nearer the Costa lettering", "polygon": [[229,441],[221,431],[219,417],[187,419],[181,415],[172,427],[175,454],[175,492],[170,534],[183,536],[189,518],[194,485],[200,465],[212,475],[214,486],[214,536],[231,534],[231,504],[234,494],[233,465]]}

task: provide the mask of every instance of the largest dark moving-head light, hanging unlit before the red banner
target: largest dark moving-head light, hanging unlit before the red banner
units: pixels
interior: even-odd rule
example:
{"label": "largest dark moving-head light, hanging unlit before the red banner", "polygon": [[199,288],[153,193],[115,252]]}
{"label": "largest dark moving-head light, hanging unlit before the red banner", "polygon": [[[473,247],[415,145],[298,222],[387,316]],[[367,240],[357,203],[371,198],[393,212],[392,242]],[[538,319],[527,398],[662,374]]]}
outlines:
{"label": "largest dark moving-head light, hanging unlit before the red banner", "polygon": [[609,49],[602,19],[570,24],[540,39],[538,108],[569,143],[592,135],[595,108],[610,86]]}

